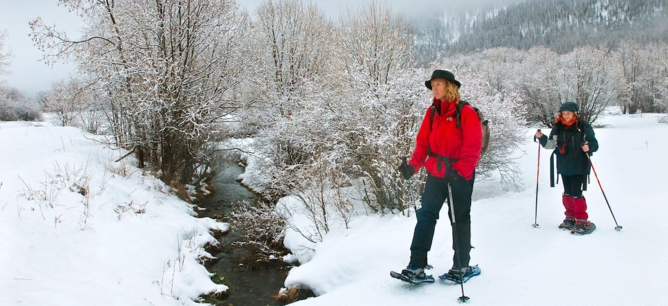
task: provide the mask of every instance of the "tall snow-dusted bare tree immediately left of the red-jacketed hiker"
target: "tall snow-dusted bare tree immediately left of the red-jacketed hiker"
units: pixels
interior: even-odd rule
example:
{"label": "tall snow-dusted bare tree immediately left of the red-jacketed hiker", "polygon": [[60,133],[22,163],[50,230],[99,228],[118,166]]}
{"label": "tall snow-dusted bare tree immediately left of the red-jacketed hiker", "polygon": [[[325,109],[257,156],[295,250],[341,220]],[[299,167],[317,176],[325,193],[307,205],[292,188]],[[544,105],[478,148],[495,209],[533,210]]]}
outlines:
{"label": "tall snow-dusted bare tree immediately left of the red-jacketed hiker", "polygon": [[[407,207],[396,169],[411,147],[415,104],[420,88],[413,70],[408,31],[381,1],[369,1],[342,14],[335,67],[336,114],[332,132],[344,169],[359,178],[356,186],[369,207],[381,214]],[[420,115],[417,115],[420,116]],[[417,122],[419,124],[419,122]]]}

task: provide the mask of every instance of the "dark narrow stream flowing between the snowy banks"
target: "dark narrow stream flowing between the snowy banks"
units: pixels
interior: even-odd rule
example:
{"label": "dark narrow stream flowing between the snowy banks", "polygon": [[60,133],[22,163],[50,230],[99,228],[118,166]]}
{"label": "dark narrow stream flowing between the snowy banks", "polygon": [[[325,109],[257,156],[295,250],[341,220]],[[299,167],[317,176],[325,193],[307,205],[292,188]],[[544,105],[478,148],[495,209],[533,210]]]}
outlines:
{"label": "dark narrow stream flowing between the snowy banks", "polygon": [[[237,177],[244,172],[244,168],[237,164],[230,164],[221,172],[213,185],[216,193],[201,202],[199,207],[206,208],[198,214],[202,217],[208,216],[218,218],[223,222],[229,222],[227,215],[234,209],[234,204],[249,200],[255,202],[256,195],[237,182]],[[271,298],[278,294],[283,287],[288,268],[286,265],[276,264],[242,264],[248,258],[253,257],[248,250],[233,246],[232,242],[243,239],[241,233],[232,230],[219,240],[221,251],[212,253],[220,260],[212,266],[208,266],[211,273],[216,273],[215,280],[222,280],[223,284],[230,287],[230,296],[218,305],[234,306],[264,306],[283,305]],[[209,302],[211,303],[211,302]]]}

